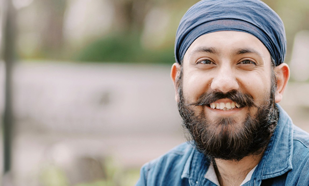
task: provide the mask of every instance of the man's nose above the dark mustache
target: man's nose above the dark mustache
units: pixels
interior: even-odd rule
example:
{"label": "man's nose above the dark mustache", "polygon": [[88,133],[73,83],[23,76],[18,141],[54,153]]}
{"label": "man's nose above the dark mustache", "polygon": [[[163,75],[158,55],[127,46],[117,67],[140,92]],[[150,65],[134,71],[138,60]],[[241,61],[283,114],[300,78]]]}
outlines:
{"label": "man's nose above the dark mustache", "polygon": [[229,66],[221,67],[213,77],[210,88],[227,93],[239,88],[235,72]]}

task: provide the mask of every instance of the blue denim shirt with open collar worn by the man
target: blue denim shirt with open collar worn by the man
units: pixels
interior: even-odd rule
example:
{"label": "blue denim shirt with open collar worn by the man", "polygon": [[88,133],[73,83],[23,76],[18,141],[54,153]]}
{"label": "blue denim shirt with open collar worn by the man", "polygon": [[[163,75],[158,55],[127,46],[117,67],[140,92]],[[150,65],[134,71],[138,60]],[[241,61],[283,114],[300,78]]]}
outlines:
{"label": "blue denim shirt with open collar worn by the man", "polygon": [[[279,106],[275,132],[251,180],[243,186],[309,186],[309,134]],[[208,158],[188,143],[146,163],[136,186],[216,186],[205,178]]]}

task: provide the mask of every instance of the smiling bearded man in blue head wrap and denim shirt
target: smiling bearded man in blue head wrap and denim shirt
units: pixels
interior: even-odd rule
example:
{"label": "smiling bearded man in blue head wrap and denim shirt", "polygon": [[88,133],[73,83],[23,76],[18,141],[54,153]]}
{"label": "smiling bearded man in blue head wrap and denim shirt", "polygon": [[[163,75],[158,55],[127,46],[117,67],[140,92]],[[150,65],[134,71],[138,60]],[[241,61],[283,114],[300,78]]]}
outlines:
{"label": "smiling bearded man in blue head wrap and denim shirt", "polygon": [[138,186],[308,186],[309,134],[277,104],[289,78],[279,16],[259,0],[202,0],[180,21],[171,77],[190,141]]}

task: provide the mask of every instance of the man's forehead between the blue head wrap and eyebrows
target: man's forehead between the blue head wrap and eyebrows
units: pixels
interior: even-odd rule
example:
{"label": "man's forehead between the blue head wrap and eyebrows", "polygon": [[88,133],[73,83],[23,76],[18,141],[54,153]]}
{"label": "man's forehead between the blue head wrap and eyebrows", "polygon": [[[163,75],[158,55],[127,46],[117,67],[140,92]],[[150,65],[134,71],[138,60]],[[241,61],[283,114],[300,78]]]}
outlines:
{"label": "man's forehead between the blue head wrap and eyebrows", "polygon": [[225,57],[247,53],[270,61],[269,51],[258,38],[239,31],[212,32],[198,37],[185,52],[184,61],[201,53]]}

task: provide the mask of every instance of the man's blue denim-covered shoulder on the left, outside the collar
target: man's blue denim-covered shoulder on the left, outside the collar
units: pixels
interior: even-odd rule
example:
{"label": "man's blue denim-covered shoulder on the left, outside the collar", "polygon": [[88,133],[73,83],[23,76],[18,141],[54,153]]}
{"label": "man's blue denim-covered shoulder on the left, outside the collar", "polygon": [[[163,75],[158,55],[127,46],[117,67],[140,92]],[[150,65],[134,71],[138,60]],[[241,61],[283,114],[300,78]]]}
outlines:
{"label": "man's blue denim-covered shoulder on the left, outside the collar", "polygon": [[[161,185],[166,180],[180,181],[184,167],[194,152],[192,145],[182,143],[141,168],[139,183]],[[147,184],[146,184],[147,183]],[[163,184],[164,185],[164,184]]]}

